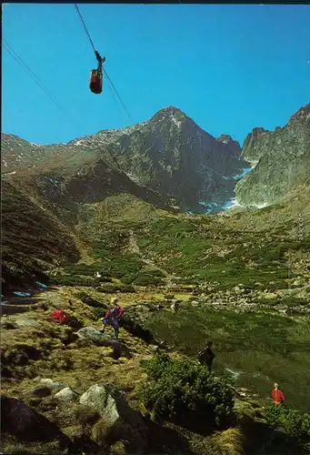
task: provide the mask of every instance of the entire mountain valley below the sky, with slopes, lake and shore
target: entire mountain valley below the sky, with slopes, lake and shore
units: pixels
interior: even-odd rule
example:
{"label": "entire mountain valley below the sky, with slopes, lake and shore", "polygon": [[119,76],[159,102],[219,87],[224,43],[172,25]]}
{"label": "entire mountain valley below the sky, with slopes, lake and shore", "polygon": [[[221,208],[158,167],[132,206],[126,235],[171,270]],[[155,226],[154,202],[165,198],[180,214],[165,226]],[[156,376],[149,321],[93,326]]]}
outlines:
{"label": "entire mountain valley below the sky, with slopes, lake and shore", "polygon": [[[173,106],[68,144],[2,134],[1,449],[310,453],[309,169],[310,104],[274,132],[255,128],[243,147]],[[115,295],[117,341],[99,332]],[[82,329],[57,326],[56,308]],[[207,339],[210,382],[195,362]],[[283,410],[270,402],[277,381]],[[221,397],[208,404],[217,426],[197,411],[206,394]],[[9,426],[10,399],[58,436],[48,427],[49,440],[34,430],[25,443]],[[176,419],[184,403],[203,430]]]}

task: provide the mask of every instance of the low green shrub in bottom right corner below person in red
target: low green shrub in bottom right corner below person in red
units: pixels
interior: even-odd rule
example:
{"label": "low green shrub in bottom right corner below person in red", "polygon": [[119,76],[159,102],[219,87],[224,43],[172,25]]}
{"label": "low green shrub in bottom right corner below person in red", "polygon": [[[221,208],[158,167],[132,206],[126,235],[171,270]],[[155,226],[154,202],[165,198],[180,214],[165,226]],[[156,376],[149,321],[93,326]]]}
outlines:
{"label": "low green shrub in bottom right corner below person in red", "polygon": [[266,420],[271,427],[281,427],[297,438],[310,437],[310,414],[286,406],[271,406],[266,410]]}

